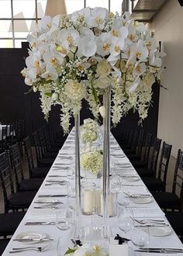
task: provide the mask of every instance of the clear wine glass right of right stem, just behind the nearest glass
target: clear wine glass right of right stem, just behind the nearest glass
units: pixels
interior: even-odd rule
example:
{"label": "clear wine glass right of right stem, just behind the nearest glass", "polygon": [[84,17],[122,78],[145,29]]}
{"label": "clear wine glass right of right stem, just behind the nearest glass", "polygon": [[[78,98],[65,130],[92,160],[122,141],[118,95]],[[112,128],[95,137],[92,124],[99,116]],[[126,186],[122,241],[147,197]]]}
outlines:
{"label": "clear wine glass right of right stem, just behind the nearest glass", "polygon": [[134,227],[133,211],[130,209],[121,209],[118,216],[118,227],[125,234]]}

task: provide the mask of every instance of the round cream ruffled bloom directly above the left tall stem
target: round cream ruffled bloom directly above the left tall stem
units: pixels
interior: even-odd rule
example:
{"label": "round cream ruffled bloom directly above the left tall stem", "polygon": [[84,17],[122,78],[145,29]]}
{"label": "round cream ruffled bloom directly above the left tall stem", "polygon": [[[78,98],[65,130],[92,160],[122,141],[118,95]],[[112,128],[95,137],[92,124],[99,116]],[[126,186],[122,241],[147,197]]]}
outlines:
{"label": "round cream ruffled bloom directly above the left tall stem", "polygon": [[65,95],[71,100],[81,100],[85,98],[85,83],[69,79],[65,85]]}

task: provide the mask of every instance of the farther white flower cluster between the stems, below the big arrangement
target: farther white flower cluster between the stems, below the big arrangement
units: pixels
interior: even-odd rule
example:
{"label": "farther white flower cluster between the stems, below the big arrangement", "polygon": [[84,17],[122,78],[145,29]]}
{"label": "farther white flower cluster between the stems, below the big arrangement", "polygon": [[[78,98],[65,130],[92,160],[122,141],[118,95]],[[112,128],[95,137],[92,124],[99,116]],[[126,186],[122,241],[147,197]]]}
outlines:
{"label": "farther white flower cluster between the stems, below the big arrangement", "polygon": [[92,143],[98,138],[98,124],[88,118],[84,120],[84,124],[81,128],[81,139],[85,143]]}

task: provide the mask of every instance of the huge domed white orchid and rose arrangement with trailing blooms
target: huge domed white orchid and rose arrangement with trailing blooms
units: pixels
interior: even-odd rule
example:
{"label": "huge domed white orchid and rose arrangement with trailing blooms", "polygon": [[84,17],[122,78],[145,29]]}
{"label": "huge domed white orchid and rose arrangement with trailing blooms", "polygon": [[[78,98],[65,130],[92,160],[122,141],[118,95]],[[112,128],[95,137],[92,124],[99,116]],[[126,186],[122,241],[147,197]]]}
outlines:
{"label": "huge domed white orchid and rose arrangement with trailing blooms", "polygon": [[[61,125],[68,131],[71,116],[86,99],[95,118],[101,95],[112,89],[112,123],[134,109],[147,116],[151,87],[161,78],[164,56],[143,23],[107,9],[89,7],[67,16],[45,16],[27,37],[29,56],[22,70],[26,85],[40,91],[46,118],[60,104]],[[46,96],[45,96],[46,95]]]}

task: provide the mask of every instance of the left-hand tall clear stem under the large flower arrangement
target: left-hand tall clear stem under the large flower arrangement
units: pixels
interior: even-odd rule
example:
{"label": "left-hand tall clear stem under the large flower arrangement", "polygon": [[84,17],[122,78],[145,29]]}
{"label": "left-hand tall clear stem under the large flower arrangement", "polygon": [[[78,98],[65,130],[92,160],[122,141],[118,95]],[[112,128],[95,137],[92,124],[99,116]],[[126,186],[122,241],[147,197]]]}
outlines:
{"label": "left-hand tall clear stem under the large flower arrangement", "polygon": [[80,140],[79,140],[79,126],[80,116],[74,116],[75,126],[75,205],[76,205],[76,220],[75,220],[75,238],[79,239],[80,232],[80,218],[81,218],[81,178],[80,178]]}

